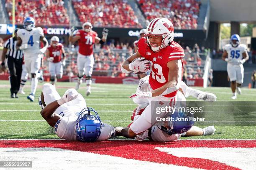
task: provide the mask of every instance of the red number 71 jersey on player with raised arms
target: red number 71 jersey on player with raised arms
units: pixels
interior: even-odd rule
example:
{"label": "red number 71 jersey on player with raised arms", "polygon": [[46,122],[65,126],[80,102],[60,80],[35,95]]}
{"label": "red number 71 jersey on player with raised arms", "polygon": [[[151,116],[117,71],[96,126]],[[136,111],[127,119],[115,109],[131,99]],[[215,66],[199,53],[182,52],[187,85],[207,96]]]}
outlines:
{"label": "red number 71 jersey on player with raised arms", "polygon": [[79,53],[82,55],[91,55],[93,53],[93,44],[95,43],[95,37],[97,32],[85,32],[84,30],[78,30],[76,35],[80,36],[78,40]]}

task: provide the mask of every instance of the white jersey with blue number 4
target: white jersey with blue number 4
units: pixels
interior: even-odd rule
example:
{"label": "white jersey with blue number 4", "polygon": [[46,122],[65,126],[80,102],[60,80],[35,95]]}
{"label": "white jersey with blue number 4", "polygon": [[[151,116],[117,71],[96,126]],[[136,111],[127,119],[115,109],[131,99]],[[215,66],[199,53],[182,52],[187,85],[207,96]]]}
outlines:
{"label": "white jersey with blue number 4", "polygon": [[20,29],[17,36],[22,40],[22,44],[28,44],[28,48],[24,50],[25,57],[37,56],[35,54],[38,54],[40,49],[40,37],[44,36],[43,29],[40,27],[33,28],[31,31]]}

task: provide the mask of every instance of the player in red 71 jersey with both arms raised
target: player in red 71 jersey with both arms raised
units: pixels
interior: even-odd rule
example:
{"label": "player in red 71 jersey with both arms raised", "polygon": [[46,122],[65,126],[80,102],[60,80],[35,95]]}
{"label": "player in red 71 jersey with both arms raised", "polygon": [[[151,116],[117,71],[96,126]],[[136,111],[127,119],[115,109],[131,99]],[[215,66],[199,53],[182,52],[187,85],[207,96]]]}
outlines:
{"label": "player in red 71 jersey with both arms raised", "polygon": [[77,68],[78,68],[78,79],[76,90],[79,89],[82,83],[82,77],[85,75],[85,82],[87,85],[86,95],[91,94],[91,84],[92,84],[92,70],[94,64],[93,58],[93,44],[100,43],[103,44],[108,36],[108,30],[103,29],[102,38],[98,37],[98,34],[92,30],[92,24],[86,22],[82,25],[82,30],[78,30],[76,35],[74,35],[74,28],[69,36],[70,42],[78,41],[79,51],[77,56]]}

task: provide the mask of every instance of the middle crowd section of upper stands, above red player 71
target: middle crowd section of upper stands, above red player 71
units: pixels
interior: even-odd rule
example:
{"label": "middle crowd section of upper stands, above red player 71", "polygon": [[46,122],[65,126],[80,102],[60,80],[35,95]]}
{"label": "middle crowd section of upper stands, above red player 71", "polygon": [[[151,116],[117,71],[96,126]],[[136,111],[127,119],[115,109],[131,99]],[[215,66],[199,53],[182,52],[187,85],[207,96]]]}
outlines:
{"label": "middle crowd section of upper stands, above red player 71", "polygon": [[142,28],[127,0],[72,0],[81,23],[94,27]]}

